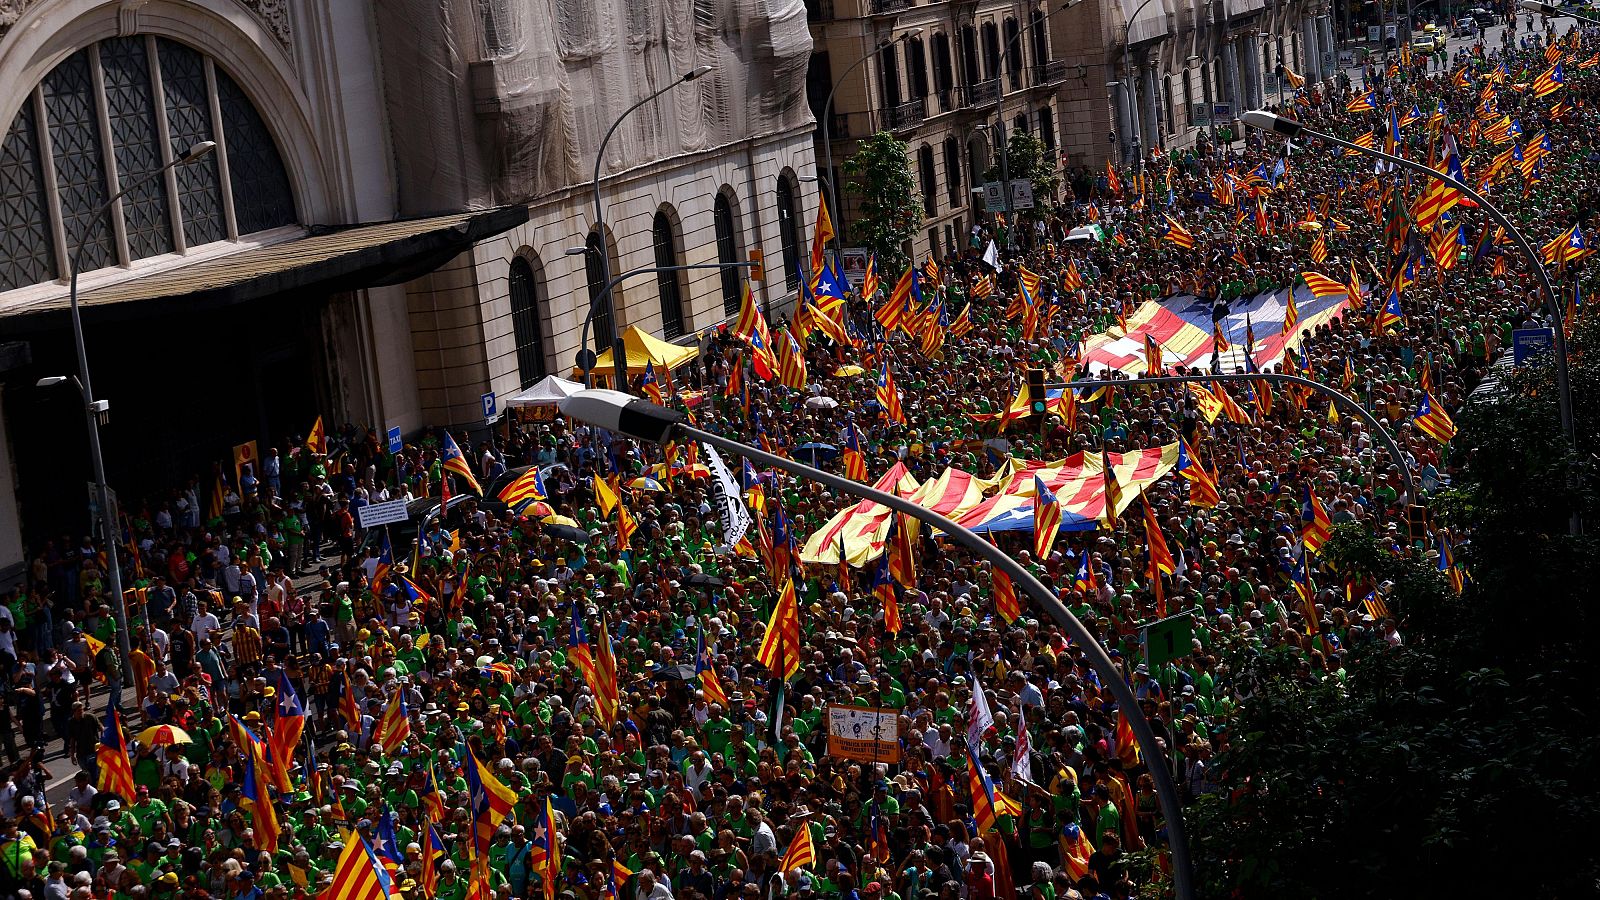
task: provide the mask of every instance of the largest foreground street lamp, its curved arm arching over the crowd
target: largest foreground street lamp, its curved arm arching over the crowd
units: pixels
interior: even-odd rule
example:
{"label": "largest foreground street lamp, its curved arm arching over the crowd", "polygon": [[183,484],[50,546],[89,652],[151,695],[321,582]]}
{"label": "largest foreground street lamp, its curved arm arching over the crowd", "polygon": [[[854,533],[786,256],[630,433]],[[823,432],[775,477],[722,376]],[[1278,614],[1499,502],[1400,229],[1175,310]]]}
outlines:
{"label": "largest foreground street lamp, its curved arm arching over the crowd", "polygon": [[563,415],[586,421],[597,428],[605,428],[608,431],[634,437],[637,440],[650,444],[662,444],[672,437],[701,440],[718,450],[752,460],[762,466],[782,469],[842,493],[886,506],[896,512],[933,525],[949,535],[950,540],[957,541],[973,554],[987,559],[990,565],[1005,572],[1011,578],[1013,585],[1027,593],[1029,599],[1050,613],[1056,625],[1064,628],[1072,641],[1083,647],[1083,652],[1090,657],[1090,663],[1099,674],[1101,682],[1107,687],[1107,690],[1110,690],[1112,697],[1117,698],[1117,706],[1130,713],[1128,724],[1133,727],[1134,743],[1139,745],[1139,753],[1142,753],[1144,759],[1149,762],[1150,778],[1155,781],[1155,793],[1160,801],[1162,815],[1166,818],[1166,844],[1171,850],[1173,862],[1173,890],[1178,900],[1194,900],[1194,871],[1189,862],[1189,839],[1184,834],[1182,806],[1178,799],[1178,786],[1173,783],[1173,775],[1166,767],[1168,756],[1155,743],[1155,732],[1150,730],[1149,721],[1146,721],[1144,716],[1136,714],[1139,701],[1134,697],[1133,689],[1125,681],[1125,674],[1110,661],[1110,655],[1106,652],[1106,647],[1094,639],[1094,634],[1091,634],[1090,629],[1085,628],[1075,615],[1072,615],[1072,610],[1062,605],[1050,588],[1042,585],[1032,572],[1002,552],[995,544],[931,509],[861,482],[757,450],[755,447],[730,440],[718,434],[710,434],[709,431],[686,424],[683,413],[658,407],[648,400],[638,400],[616,391],[579,391],[563,399],[560,407]]}

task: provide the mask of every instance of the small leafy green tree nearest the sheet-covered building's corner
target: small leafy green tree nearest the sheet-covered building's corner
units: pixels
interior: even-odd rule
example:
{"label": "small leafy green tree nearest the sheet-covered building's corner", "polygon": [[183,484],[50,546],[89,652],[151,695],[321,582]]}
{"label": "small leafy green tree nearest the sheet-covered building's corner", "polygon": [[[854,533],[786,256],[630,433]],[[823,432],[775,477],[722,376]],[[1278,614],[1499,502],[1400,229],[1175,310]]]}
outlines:
{"label": "small leafy green tree nearest the sheet-covered building's corner", "polygon": [[878,272],[893,282],[910,263],[904,243],[922,226],[922,192],[910,173],[910,152],[894,135],[878,131],[845,160],[845,175],[851,178],[848,191],[859,199],[851,239],[878,255]]}

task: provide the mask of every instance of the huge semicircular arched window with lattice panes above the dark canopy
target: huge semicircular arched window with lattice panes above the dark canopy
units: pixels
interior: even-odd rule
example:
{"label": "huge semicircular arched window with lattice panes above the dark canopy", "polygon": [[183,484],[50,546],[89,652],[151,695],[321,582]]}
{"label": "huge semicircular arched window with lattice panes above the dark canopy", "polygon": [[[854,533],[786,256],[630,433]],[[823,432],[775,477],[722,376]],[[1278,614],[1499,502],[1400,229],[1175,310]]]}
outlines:
{"label": "huge semicircular arched window with lattice panes above the dark canopy", "polygon": [[[200,141],[218,152],[94,215]],[[67,277],[56,247],[69,258],[83,247],[93,271],[294,221],[283,159],[254,104],[211,58],[165,37],[109,37],[67,56],[0,138],[0,291]]]}

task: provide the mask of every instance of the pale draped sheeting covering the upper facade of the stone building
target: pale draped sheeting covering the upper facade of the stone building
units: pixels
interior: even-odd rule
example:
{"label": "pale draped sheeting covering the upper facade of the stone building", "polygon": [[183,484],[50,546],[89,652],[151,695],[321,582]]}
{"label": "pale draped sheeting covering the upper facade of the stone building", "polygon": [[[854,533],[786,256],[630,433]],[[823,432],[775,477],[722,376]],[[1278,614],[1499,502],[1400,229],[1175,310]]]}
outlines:
{"label": "pale draped sheeting covering the upper facade of the stone building", "polygon": [[522,203],[811,120],[805,0],[384,0],[384,96],[408,215]]}

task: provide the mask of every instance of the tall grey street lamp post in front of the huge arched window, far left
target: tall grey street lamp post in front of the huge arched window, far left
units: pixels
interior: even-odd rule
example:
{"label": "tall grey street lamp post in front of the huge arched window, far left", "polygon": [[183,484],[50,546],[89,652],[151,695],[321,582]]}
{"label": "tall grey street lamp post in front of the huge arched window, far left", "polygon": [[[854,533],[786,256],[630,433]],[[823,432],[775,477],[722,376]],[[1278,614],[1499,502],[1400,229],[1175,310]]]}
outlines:
{"label": "tall grey street lamp post in front of the huge arched window, far left", "polygon": [[[94,211],[94,216],[90,218],[90,227],[106,221],[106,213],[136,187],[144,187],[150,181],[165,176],[166,170],[192,163],[214,149],[216,141],[200,141],[182,154],[173,157],[173,160],[162,168],[146,175],[144,178],[133,179],[126,187],[117,191],[109,200],[101,203],[99,210]],[[101,541],[106,543],[106,575],[110,581],[110,609],[117,618],[117,652],[122,655],[122,677],[117,679],[117,692],[109,701],[120,708],[122,685],[128,681],[130,673],[133,671],[133,645],[128,642],[128,602],[122,596],[122,564],[117,560],[117,522],[112,520],[110,485],[106,484],[106,456],[101,452],[99,442],[99,418],[110,410],[110,404],[94,399],[94,388],[90,384],[90,357],[83,346],[83,311],[78,307],[78,272],[83,267],[83,250],[88,247],[88,242],[90,234],[85,234],[78,242],[78,248],[72,253],[72,277],[67,287],[67,301],[72,306],[72,343],[78,354],[78,375],[74,378],[74,384],[78,388],[78,394],[83,399],[83,413],[88,418],[90,461],[94,468],[94,493],[98,495],[101,511]],[[64,376],[43,378],[40,380],[40,386],[50,388],[61,384],[62,381],[66,381]]]}

